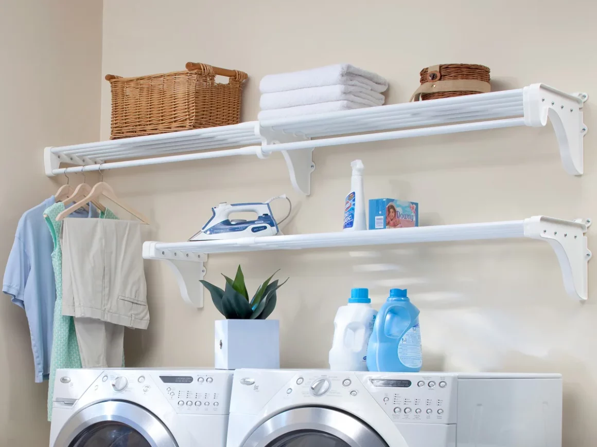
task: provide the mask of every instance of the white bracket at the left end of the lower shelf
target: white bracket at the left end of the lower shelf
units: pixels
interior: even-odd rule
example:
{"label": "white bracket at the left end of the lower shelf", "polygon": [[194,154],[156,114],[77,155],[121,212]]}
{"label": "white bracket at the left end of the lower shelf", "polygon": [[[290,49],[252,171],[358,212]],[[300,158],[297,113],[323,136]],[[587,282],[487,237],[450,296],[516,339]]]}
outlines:
{"label": "white bracket at the left end of the lower shelf", "polygon": [[143,244],[144,259],[165,260],[176,277],[184,302],[203,308],[204,287],[199,281],[205,277],[207,254],[181,252],[180,250],[156,250],[155,242]]}

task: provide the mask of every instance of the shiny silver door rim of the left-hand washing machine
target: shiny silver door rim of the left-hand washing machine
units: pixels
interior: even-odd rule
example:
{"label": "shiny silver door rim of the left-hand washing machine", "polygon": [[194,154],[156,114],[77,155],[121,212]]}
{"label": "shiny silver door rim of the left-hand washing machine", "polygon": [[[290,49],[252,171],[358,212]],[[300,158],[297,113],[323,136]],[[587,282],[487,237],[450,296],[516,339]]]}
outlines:
{"label": "shiny silver door rim of the left-hand washing machine", "polygon": [[115,421],[137,430],[152,447],[178,447],[170,430],[153,414],[130,402],[107,401],[94,403],[72,415],[56,438],[56,447],[70,443],[88,427]]}

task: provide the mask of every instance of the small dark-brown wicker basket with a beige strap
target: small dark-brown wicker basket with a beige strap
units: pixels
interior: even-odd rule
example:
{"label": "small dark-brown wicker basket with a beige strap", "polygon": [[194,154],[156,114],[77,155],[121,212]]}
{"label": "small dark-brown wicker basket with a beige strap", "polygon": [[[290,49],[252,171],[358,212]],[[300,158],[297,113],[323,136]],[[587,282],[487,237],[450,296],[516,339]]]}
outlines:
{"label": "small dark-brown wicker basket with a beige strap", "polygon": [[436,100],[490,91],[490,69],[474,64],[443,64],[421,70],[421,86],[411,101]]}

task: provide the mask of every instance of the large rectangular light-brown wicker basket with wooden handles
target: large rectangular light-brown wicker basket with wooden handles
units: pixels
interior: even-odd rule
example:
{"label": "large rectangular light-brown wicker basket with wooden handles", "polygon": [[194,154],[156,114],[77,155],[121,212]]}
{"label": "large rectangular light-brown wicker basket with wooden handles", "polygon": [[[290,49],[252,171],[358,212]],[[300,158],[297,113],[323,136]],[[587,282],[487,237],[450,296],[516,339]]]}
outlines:
{"label": "large rectangular light-brown wicker basket with wooden handles", "polygon": [[[112,88],[110,139],[238,124],[247,73],[189,62],[182,72],[106,75]],[[217,83],[216,75],[229,77]]]}

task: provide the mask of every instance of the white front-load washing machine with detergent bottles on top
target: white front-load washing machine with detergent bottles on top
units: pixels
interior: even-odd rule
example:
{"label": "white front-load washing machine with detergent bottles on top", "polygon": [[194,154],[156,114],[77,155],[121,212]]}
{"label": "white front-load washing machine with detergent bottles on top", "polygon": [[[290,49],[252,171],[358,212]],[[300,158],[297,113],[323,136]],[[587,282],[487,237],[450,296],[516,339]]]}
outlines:
{"label": "white front-load washing machine with detergent bottles on top", "polygon": [[236,370],[227,447],[561,447],[559,374]]}

